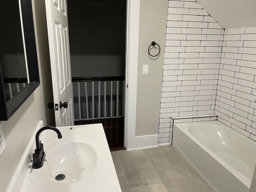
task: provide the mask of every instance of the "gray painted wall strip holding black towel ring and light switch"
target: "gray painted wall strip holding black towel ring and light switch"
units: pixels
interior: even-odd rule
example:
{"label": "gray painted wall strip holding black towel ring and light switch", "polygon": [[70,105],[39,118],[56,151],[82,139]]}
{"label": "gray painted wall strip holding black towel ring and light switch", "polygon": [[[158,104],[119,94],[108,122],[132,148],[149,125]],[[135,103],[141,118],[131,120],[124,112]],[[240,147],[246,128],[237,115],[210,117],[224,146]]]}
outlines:
{"label": "gray painted wall strip holding black towel ring and light switch", "polygon": [[[168,0],[140,0],[136,136],[158,134],[167,8]],[[148,55],[152,41],[162,48],[154,59]],[[142,75],[143,65],[149,65],[148,75]]]}

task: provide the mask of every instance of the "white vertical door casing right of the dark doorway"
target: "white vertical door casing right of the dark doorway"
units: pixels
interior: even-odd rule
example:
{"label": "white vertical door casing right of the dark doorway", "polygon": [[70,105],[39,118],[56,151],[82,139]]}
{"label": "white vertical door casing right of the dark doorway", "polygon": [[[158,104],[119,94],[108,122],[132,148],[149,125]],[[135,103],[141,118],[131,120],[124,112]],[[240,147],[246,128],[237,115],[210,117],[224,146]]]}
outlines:
{"label": "white vertical door casing right of the dark doorway", "polygon": [[140,0],[126,2],[124,146],[135,149]]}

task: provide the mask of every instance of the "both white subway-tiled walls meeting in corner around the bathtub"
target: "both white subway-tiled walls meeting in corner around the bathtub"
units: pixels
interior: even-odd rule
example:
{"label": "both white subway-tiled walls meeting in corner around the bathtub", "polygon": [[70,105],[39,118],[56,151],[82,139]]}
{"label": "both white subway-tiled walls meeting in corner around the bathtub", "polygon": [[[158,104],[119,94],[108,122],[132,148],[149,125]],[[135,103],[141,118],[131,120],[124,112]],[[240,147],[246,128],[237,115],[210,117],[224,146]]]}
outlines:
{"label": "both white subway-tiled walls meeting in corner around the bathtub", "polygon": [[224,31],[194,0],[170,0],[158,141],[170,117],[208,114],[256,141],[256,27]]}

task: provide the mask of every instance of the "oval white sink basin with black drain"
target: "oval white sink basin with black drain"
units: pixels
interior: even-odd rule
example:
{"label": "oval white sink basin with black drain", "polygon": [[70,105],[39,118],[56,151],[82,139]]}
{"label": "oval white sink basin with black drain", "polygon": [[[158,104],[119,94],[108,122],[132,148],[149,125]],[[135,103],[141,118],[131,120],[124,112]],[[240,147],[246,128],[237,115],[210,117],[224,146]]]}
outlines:
{"label": "oval white sink basin with black drain", "polygon": [[[44,174],[54,182],[70,184],[84,180],[98,167],[99,155],[90,140],[58,140],[47,144],[44,150]],[[65,176],[63,180],[56,180],[59,174]]]}

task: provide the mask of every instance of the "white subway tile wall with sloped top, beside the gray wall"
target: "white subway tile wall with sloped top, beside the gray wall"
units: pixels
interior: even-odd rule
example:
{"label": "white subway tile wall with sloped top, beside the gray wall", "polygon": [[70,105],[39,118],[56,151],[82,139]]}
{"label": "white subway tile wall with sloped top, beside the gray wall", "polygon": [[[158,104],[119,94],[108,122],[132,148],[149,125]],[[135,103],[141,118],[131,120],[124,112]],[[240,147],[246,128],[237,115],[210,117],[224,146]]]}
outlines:
{"label": "white subway tile wall with sloped top, beside the gray wall", "polygon": [[159,140],[170,117],[214,114],[224,29],[194,0],[170,0]]}

